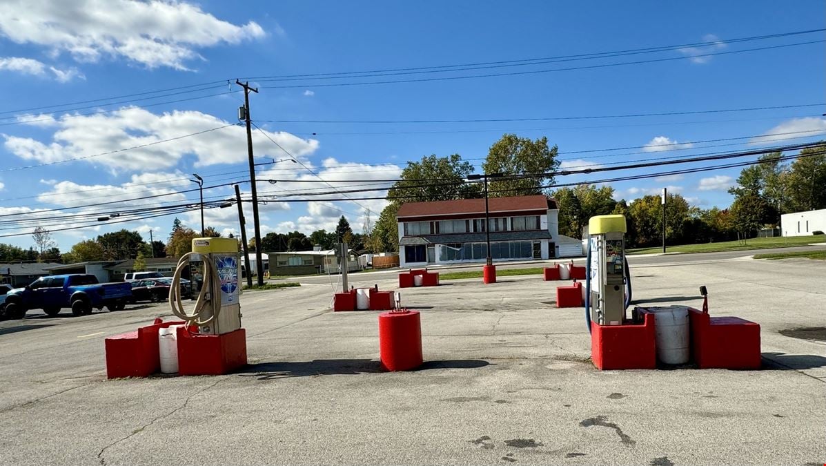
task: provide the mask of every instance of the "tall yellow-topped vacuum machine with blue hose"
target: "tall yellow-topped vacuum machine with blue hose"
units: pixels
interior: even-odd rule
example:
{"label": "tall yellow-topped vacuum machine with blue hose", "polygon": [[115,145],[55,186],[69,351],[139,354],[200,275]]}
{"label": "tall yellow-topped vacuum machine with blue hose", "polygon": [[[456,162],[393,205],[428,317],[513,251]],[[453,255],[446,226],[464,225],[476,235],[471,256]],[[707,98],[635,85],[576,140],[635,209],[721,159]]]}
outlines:
{"label": "tall yellow-topped vacuum machine with blue hose", "polygon": [[601,326],[623,324],[631,298],[631,278],[625,261],[625,216],[592,216],[588,221],[586,258],[586,321]]}

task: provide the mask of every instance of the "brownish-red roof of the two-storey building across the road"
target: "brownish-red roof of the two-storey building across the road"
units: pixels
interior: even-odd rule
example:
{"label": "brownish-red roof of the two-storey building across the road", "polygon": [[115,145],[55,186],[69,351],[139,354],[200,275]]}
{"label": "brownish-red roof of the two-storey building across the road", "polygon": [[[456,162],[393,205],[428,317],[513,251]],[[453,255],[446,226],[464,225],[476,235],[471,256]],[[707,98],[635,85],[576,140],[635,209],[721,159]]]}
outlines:
{"label": "brownish-red roof of the two-storey building across the road", "polygon": [[[555,209],[556,202],[542,194],[534,196],[490,197],[490,212],[547,211]],[[485,199],[459,199],[457,201],[405,202],[396,214],[399,218],[410,216],[450,216],[457,214],[484,214]]]}

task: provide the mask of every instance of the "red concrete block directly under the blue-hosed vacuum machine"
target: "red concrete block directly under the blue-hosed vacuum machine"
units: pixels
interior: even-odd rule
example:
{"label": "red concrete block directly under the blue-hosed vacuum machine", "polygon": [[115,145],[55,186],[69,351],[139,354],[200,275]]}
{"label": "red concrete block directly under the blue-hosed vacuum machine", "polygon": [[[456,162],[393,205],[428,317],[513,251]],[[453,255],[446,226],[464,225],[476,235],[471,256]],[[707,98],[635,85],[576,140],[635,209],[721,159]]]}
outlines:
{"label": "red concrete block directly under the blue-hosed vacuum machine", "polygon": [[596,369],[656,369],[654,315],[643,324],[601,326],[591,322],[591,361]]}

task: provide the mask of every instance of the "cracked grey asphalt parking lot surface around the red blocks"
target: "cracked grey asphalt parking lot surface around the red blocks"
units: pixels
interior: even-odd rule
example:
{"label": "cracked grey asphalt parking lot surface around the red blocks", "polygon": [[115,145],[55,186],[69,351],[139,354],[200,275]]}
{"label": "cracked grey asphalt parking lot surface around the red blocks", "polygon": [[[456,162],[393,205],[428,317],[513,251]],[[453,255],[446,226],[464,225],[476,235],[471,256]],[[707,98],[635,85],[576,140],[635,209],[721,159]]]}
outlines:
{"label": "cracked grey asphalt parking lot surface around the red blocks", "polygon": [[693,255],[631,258],[634,304],[699,307],[705,285],[712,315],[762,326],[762,370],[597,371],[584,311],[539,276],[401,290],[407,373],[378,367],[377,312],[330,311],[317,279],[244,293],[250,364],[220,377],[106,380],[103,339],[164,304],[32,312],[0,322],[0,463],[823,464],[826,342],[790,335],[824,326],[826,264]]}

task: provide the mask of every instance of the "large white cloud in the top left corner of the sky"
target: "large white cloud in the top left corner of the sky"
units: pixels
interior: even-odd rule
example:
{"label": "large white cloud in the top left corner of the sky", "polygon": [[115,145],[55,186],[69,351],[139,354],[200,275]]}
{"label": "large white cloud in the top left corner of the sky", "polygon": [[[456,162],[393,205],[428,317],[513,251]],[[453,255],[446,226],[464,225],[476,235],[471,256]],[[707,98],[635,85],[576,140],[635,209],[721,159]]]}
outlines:
{"label": "large white cloud in the top left corner of the sky", "polygon": [[0,35],[17,44],[44,46],[52,55],[68,52],[78,61],[125,58],[148,68],[188,69],[203,59],[197,48],[237,44],[264,36],[254,21],[236,26],[189,2],[8,0]]}

